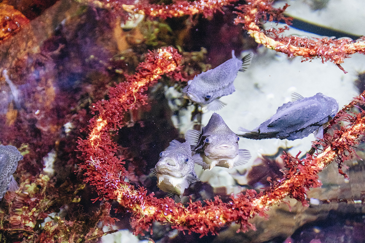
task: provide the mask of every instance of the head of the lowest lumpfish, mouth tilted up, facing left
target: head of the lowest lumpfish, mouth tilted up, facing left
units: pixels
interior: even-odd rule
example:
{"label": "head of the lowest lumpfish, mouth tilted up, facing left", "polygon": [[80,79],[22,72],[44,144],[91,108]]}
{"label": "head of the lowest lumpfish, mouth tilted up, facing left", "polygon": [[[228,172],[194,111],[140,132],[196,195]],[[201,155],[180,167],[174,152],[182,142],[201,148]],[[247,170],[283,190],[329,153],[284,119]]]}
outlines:
{"label": "head of the lowest lumpfish, mouth tilted up, facing left", "polygon": [[[187,142],[185,142],[188,144]],[[184,144],[185,144],[184,143]],[[194,169],[190,145],[184,149],[166,150],[160,153],[160,160],[155,166],[155,172],[161,175],[184,177]]]}

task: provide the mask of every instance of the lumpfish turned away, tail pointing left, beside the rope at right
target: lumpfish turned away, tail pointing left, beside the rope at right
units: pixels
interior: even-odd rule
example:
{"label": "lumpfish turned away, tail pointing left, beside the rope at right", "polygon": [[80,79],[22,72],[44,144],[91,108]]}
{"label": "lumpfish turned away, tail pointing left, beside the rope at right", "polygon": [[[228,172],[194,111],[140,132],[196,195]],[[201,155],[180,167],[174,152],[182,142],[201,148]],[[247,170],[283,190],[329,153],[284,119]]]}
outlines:
{"label": "lumpfish turned away, tail pointing left, beside the rope at right", "polygon": [[251,139],[295,140],[314,132],[317,139],[322,139],[323,127],[336,115],[338,108],[338,102],[334,98],[322,93],[307,98],[293,93],[292,102],[280,106],[276,114],[253,131],[240,128],[246,133],[238,135]]}

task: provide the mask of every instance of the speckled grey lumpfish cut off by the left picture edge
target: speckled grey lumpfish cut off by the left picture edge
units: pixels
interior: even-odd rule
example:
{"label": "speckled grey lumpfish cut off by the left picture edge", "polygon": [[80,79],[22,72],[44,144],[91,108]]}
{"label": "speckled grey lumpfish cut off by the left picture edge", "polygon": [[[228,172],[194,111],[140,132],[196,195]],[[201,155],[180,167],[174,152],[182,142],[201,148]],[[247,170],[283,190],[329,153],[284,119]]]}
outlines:
{"label": "speckled grey lumpfish cut off by the left picture edge", "polygon": [[12,145],[0,145],[0,200],[8,191],[9,186],[17,187],[13,173],[18,167],[18,161],[22,160],[23,156],[18,149]]}

